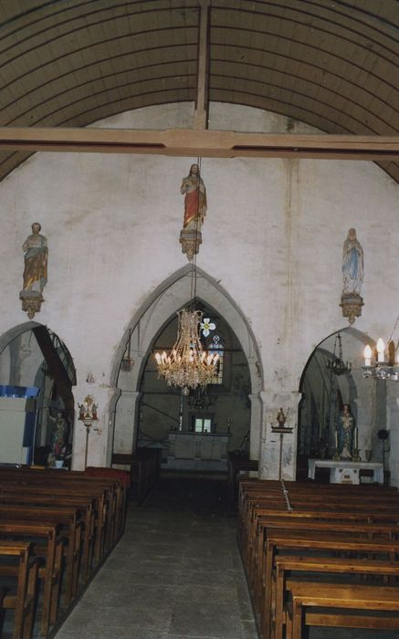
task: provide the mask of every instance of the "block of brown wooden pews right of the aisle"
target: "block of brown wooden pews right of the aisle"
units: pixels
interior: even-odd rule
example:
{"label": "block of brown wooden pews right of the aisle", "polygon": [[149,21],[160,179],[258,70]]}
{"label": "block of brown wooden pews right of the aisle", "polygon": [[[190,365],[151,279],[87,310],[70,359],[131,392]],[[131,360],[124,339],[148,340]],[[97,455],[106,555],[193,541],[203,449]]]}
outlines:
{"label": "block of brown wooden pews right of the aisle", "polygon": [[[384,587],[385,581],[391,580],[393,590],[390,592],[395,592],[399,599],[398,538],[399,500],[395,489],[369,489],[367,486],[366,491],[365,487],[358,486],[285,484],[254,479],[240,482],[237,539],[259,634],[264,639],[282,639],[294,632],[295,625],[296,636],[301,636],[298,618],[295,614],[288,617],[287,605],[289,601],[292,603],[292,596],[287,597],[286,578],[281,581],[279,576],[280,556],[300,554],[305,562],[317,554],[320,560],[331,561],[332,566],[334,557],[336,560],[338,556],[339,567],[331,568],[327,586],[337,586],[337,574],[340,578],[344,576],[348,587],[359,585],[356,580],[360,575],[362,580],[367,580],[367,585],[370,579],[373,584],[377,581],[376,587]],[[356,561],[360,563],[357,565]],[[307,567],[309,569],[308,564]],[[306,581],[306,570],[299,572],[302,581]],[[325,571],[315,569],[314,573],[317,581],[308,580],[310,583],[322,581],[321,577],[325,580]],[[318,586],[313,585],[313,588],[317,594]],[[299,603],[296,605],[299,606]],[[336,614],[334,611],[321,617],[314,607],[311,611],[308,608],[310,606],[303,607],[305,613],[301,617],[305,625],[320,621],[320,625],[331,623],[338,626],[348,618],[348,614]],[[358,623],[366,623],[362,621],[364,613],[361,608],[359,603]],[[291,605],[291,609],[295,610],[295,607]],[[391,613],[388,616],[376,614],[373,624],[376,628],[391,627],[392,623],[396,623],[392,618]]]}

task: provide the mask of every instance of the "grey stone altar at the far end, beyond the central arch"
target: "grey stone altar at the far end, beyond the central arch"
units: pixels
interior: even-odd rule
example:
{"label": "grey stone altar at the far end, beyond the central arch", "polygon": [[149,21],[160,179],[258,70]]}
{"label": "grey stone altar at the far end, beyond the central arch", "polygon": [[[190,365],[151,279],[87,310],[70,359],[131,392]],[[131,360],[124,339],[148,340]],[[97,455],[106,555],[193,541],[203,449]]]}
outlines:
{"label": "grey stone altar at the far end, beyond the central arch", "polygon": [[230,433],[169,431],[167,467],[186,470],[227,470]]}

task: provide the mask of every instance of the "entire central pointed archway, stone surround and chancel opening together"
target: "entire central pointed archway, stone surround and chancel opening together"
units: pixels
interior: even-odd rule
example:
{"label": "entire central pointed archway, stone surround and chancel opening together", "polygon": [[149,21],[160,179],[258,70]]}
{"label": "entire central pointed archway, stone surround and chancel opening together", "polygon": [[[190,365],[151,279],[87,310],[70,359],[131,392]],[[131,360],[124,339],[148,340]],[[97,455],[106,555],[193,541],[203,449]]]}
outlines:
{"label": "entire central pointed archway, stone surround and chancel opening together", "polygon": [[[258,458],[261,425],[261,369],[257,346],[247,321],[226,291],[198,269],[197,299],[205,317],[215,319],[219,340],[203,336],[205,346],[223,343],[224,376],[200,398],[192,393],[182,406],[179,390],[157,379],[154,349],[171,347],[176,339],[176,311],[190,301],[190,267],[184,267],[154,292],[127,330],[123,340],[116,385],[121,390],[115,411],[114,454],[130,454],[135,445],[158,446],[166,463],[169,431],[195,430],[195,408],[200,420],[210,419],[202,428],[228,435],[229,450],[245,450],[251,459]],[[207,341],[206,341],[207,340]],[[209,341],[211,340],[211,341]],[[211,343],[212,342],[212,343]],[[131,360],[130,365],[124,362]],[[227,365],[227,362],[229,362]],[[232,413],[231,397],[240,406],[239,417]],[[230,397],[230,400],[228,399]],[[155,404],[155,405],[154,405]],[[212,405],[211,405],[212,404]],[[205,408],[206,407],[206,408]],[[209,417],[205,414],[211,414]],[[244,416],[245,415],[245,416]],[[230,419],[230,422],[228,420]]]}

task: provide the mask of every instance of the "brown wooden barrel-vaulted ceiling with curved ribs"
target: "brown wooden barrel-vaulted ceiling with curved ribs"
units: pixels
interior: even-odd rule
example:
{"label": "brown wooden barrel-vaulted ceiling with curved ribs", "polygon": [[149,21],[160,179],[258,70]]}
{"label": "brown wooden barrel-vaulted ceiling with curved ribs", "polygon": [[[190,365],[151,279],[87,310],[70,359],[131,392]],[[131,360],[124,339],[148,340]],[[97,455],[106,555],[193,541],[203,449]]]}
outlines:
{"label": "brown wooden barrel-vaulted ceiling with curved ribs", "polygon": [[[0,126],[195,100],[199,15],[199,0],[3,0]],[[210,0],[208,16],[209,100],[398,134],[397,0]],[[0,152],[0,179],[26,157]],[[399,161],[379,164],[399,182]]]}

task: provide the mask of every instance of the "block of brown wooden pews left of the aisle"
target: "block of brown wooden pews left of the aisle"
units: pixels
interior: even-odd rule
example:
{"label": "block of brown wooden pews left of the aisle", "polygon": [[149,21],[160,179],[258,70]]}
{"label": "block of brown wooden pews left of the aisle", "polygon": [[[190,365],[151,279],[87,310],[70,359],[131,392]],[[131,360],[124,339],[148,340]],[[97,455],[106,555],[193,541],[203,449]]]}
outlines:
{"label": "block of brown wooden pews left of the aisle", "polygon": [[[128,484],[121,471],[103,470],[111,473],[97,477],[96,470],[87,475],[0,467],[0,543],[24,539],[41,560],[35,578],[42,595],[39,610],[25,623],[24,639],[32,636],[36,620],[43,636],[53,632],[121,539]],[[14,619],[10,602],[7,592],[3,610],[8,625]]]}

